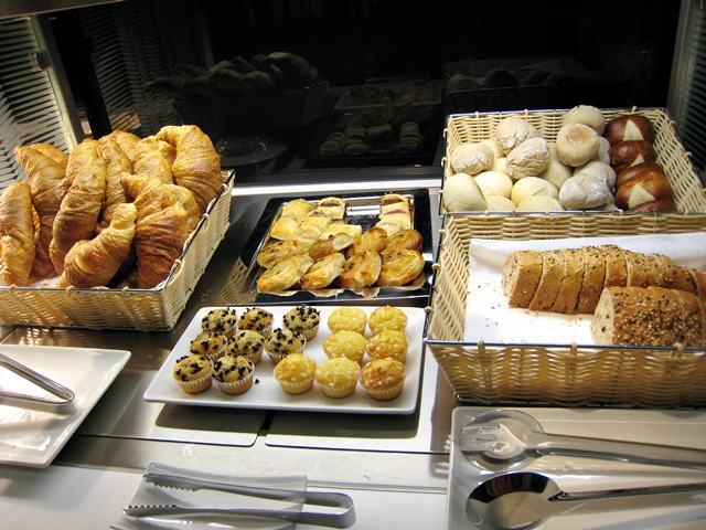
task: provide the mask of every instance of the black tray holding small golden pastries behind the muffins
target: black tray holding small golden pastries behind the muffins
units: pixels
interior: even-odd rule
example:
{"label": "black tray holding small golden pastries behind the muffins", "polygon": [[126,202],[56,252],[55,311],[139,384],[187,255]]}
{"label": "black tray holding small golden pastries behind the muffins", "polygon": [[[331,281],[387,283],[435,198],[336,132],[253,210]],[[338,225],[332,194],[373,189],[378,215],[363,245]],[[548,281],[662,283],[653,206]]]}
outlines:
{"label": "black tray holding small golden pastries behind the muffins", "polygon": [[[226,283],[218,304],[375,304],[381,300],[386,304],[402,306],[425,305],[430,293],[431,264],[434,263],[432,240],[431,240],[431,210],[429,201],[429,190],[402,190],[396,193],[407,197],[410,203],[413,227],[417,230],[424,241],[421,255],[425,258],[424,272],[415,282],[403,287],[371,287],[361,290],[351,289],[321,289],[315,294],[309,290],[286,290],[282,293],[258,293],[256,282],[264,268],[257,264],[256,257],[260,248],[270,242],[269,231],[281,213],[284,203],[295,198],[272,198],[268,201],[263,215],[257,222],[253,234],[245,244],[238,262],[232,269],[231,277]],[[379,201],[384,193],[361,192],[338,194],[346,202],[346,216],[349,223],[361,224],[365,232],[378,221]],[[315,204],[327,195],[306,197]]]}

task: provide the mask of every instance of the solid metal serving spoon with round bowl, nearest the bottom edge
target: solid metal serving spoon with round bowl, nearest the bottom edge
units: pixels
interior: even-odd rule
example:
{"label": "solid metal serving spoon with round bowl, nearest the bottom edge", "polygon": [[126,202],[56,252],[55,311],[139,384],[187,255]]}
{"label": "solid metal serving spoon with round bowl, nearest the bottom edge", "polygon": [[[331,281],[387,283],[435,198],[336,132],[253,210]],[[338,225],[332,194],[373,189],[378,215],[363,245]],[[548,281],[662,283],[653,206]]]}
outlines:
{"label": "solid metal serving spoon with round bowl, nearest the bottom edge", "polygon": [[466,502],[481,530],[520,530],[549,517],[706,502],[706,483],[570,494],[544,475],[510,473],[481,483]]}

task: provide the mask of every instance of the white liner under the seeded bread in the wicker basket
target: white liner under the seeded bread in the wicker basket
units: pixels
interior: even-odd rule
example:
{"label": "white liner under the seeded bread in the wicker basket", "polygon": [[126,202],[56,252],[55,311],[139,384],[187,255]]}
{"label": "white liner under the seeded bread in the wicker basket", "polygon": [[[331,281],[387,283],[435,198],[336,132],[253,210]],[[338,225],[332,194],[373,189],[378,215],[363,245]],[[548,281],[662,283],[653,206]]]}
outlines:
{"label": "white liner under the seeded bread in the wicker basket", "polygon": [[559,315],[509,307],[501,286],[502,267],[507,255],[515,251],[548,251],[605,244],[616,244],[643,254],[663,254],[678,265],[697,271],[706,269],[705,232],[522,241],[473,239],[469,248],[470,278],[464,341],[592,344],[591,315]]}

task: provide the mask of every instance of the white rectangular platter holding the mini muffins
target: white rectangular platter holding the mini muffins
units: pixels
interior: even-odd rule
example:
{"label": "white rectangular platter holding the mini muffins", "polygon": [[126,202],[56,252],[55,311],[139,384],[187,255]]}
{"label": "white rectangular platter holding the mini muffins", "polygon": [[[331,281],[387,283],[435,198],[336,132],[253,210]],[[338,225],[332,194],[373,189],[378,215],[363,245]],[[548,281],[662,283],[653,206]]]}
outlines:
{"label": "white rectangular platter holding the mini muffins", "polygon": [[[246,306],[229,306],[236,309],[238,316]],[[249,306],[253,307],[253,306]],[[263,306],[264,309],[274,316],[274,328],[281,327],[282,317],[296,306]],[[340,306],[315,306],[321,315],[321,327],[319,333],[307,342],[303,353],[311,357],[317,364],[324,362],[328,358],[323,352],[323,341],[331,336],[327,326],[329,316]],[[375,306],[360,306],[368,316]],[[365,390],[359,384],[355,392],[342,399],[332,399],[322,394],[317,383],[309,392],[299,395],[287,394],[275,380],[272,370],[275,364],[263,354],[263,359],[255,367],[255,384],[253,388],[239,395],[228,395],[218,390],[216,384],[200,394],[188,394],[179,388],[172,375],[174,363],[180,358],[189,354],[191,341],[201,331],[201,319],[213,307],[204,307],[196,312],[189,324],[184,333],[174,346],[164,363],[157,372],[145,392],[145,400],[149,402],[170,403],[181,405],[201,406],[224,406],[232,409],[266,409],[266,410],[291,410],[303,412],[336,412],[336,413],[361,413],[361,414],[411,414],[417,406],[417,396],[421,383],[422,365],[422,327],[425,312],[421,308],[403,307],[407,315],[407,340],[409,351],[405,361],[405,386],[402,394],[391,401],[375,401],[367,395]],[[370,329],[366,330],[366,338],[370,339]],[[368,358],[365,358],[368,360]],[[365,362],[365,361],[364,361]]]}

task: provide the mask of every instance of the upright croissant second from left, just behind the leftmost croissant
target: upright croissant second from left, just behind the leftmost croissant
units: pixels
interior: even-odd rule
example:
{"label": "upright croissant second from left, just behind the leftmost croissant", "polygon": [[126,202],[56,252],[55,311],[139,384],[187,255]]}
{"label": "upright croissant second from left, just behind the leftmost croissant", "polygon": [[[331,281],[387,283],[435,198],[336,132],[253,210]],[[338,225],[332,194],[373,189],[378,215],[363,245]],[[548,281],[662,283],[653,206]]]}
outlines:
{"label": "upright croissant second from left, just behind the leftmost croissant", "polygon": [[[46,147],[51,149],[46,149]],[[63,159],[53,150],[63,155]],[[56,187],[64,178],[68,157],[47,144],[32,144],[15,147],[14,159],[22,166],[30,181],[32,204],[40,221],[34,264],[30,276],[36,279],[47,278],[56,274],[54,264],[49,257],[49,245],[52,241],[54,218],[62,203],[56,195]]]}

